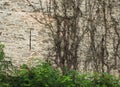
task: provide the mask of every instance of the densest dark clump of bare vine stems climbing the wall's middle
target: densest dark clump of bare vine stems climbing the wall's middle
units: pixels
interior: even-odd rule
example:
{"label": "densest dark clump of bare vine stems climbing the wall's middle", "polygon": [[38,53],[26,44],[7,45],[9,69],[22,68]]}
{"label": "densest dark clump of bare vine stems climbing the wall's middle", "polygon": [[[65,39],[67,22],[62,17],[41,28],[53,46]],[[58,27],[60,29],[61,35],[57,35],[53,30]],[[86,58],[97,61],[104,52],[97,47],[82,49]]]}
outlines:
{"label": "densest dark clump of bare vine stems climbing the wall's middle", "polygon": [[[64,71],[78,69],[80,0],[53,1],[53,18],[56,21],[54,34],[55,64]],[[63,72],[64,73],[64,72]]]}

